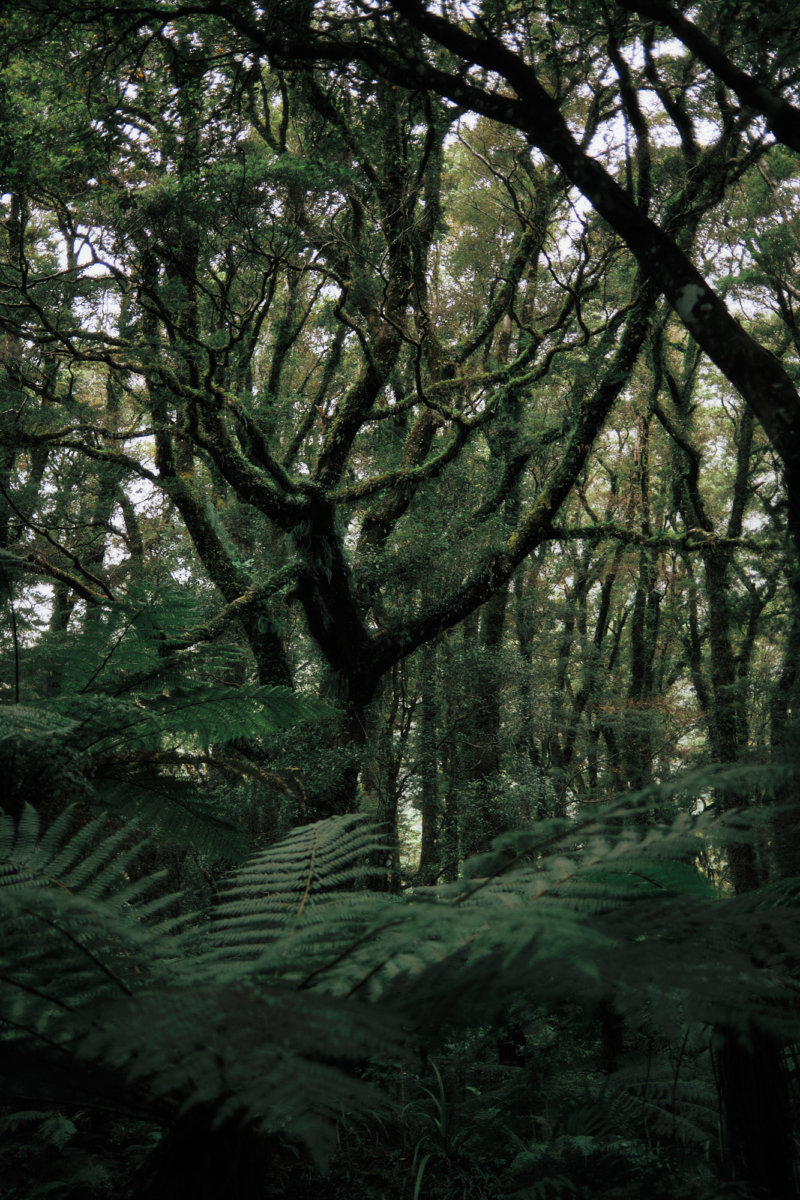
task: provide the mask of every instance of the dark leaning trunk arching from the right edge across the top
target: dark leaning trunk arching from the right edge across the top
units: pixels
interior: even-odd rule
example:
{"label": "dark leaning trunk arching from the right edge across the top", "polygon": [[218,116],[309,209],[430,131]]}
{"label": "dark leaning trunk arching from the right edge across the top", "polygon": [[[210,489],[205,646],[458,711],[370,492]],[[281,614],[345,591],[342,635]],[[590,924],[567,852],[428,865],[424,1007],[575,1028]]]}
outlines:
{"label": "dark leaning trunk arching from the right edge across the top", "polygon": [[[396,0],[385,11],[369,11],[366,23],[357,5],[344,13],[338,8],[329,12],[325,6],[311,8],[300,25],[295,14],[287,12],[270,29],[255,13],[224,2],[216,4],[213,12],[247,44],[281,64],[360,61],[395,85],[403,86],[409,78],[414,79],[420,90],[519,130],[626,242],[644,277],[663,292],[692,337],[752,407],[781,457],[789,523],[796,539],[800,502],[793,468],[798,464],[800,440],[794,383],[775,356],[727,312],[724,301],[698,270],[691,250],[687,252],[681,232],[686,206],[696,205],[709,187],[718,198],[720,190],[741,170],[741,166],[734,166],[736,152],[745,163],[764,152],[768,143],[759,125],[763,115],[770,132],[796,149],[800,109],[784,98],[787,90],[793,97],[795,47],[782,38],[774,53],[759,54],[757,49],[756,66],[763,74],[757,79],[730,56],[736,53],[730,44],[736,26],[727,11],[716,22],[710,18],[715,36],[706,36],[669,5],[631,4],[624,8],[642,13],[644,23],[632,22],[619,10],[602,12],[591,5],[575,10],[571,19],[559,13],[558,24],[535,5],[522,10],[491,5],[475,14],[449,18],[426,10],[417,0]],[[170,16],[180,12],[178,5]],[[676,97],[670,96],[670,85],[656,65],[654,22],[666,24],[692,55],[697,54],[684,59],[688,72],[679,83]],[[603,41],[606,53],[584,53],[593,38]],[[620,53],[624,40],[638,40],[643,47],[644,68],[638,78]],[[577,71],[576,61],[582,64]],[[607,65],[618,76],[618,103],[634,139],[624,185],[616,181],[613,169],[603,167],[589,152],[597,132],[595,126],[612,110],[609,106],[603,112],[602,102],[610,100],[614,91],[613,85],[604,83],[602,72]],[[570,106],[578,82],[589,83],[595,100],[585,115],[578,115],[579,133],[573,134],[570,119],[576,118]],[[717,82],[723,86],[715,95]],[[710,98],[714,115],[704,113],[704,116],[717,124],[715,152],[700,151],[686,106],[690,86],[698,83],[709,98],[714,97]],[[655,146],[642,102],[643,89],[650,88],[664,106],[688,168],[682,181],[675,180],[672,203],[661,211],[655,205],[651,211]],[[724,88],[740,101],[739,109],[728,102]]]}

